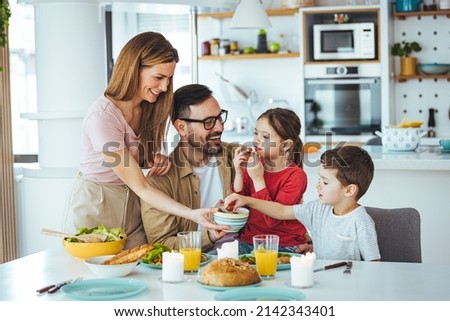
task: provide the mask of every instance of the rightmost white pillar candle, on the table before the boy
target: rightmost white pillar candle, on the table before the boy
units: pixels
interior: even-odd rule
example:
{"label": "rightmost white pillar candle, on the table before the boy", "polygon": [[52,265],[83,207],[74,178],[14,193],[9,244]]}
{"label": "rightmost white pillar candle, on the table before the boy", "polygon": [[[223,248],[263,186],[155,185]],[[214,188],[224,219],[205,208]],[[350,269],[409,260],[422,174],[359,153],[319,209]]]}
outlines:
{"label": "rightmost white pillar candle, on the table before the boy", "polygon": [[291,285],[310,287],[314,285],[314,253],[291,257]]}

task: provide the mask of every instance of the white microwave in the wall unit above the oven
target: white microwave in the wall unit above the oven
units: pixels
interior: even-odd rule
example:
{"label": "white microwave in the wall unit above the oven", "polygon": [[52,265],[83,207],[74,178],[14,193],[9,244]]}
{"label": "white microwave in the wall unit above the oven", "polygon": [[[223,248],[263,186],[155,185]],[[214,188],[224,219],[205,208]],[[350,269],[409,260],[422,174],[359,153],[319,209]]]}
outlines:
{"label": "white microwave in the wall unit above the oven", "polygon": [[373,22],[313,26],[314,60],[375,59]]}

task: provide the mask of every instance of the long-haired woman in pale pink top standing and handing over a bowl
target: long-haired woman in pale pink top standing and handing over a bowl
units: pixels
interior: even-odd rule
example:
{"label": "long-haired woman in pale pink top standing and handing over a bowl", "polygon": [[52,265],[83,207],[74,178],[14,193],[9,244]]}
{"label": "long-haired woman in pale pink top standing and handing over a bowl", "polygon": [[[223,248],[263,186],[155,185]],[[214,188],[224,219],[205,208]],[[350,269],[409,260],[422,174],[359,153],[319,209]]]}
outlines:
{"label": "long-haired woman in pale pink top standing and handing over a bowl", "polygon": [[164,36],[145,32],[122,49],[104,96],[83,122],[80,172],[69,199],[66,230],[100,224],[122,227],[125,248],[147,243],[139,198],[161,211],[207,228],[225,229],[208,218],[211,209],[192,210],[151,187],[148,175],[164,175],[170,161],[159,152],[172,111],[172,78],[178,52]]}

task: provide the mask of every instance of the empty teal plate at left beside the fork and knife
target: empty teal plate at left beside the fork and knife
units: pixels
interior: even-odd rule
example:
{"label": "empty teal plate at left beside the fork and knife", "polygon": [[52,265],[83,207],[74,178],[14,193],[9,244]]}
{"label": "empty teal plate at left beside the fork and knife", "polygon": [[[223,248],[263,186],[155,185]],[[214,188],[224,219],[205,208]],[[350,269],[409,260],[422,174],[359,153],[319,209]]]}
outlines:
{"label": "empty teal plate at left beside the fork and knife", "polygon": [[61,291],[79,300],[106,301],[122,299],[144,291],[147,284],[134,279],[91,279],[67,284]]}

